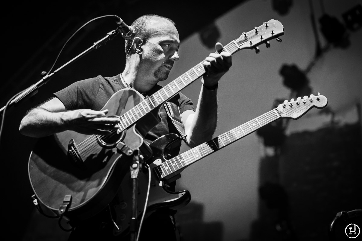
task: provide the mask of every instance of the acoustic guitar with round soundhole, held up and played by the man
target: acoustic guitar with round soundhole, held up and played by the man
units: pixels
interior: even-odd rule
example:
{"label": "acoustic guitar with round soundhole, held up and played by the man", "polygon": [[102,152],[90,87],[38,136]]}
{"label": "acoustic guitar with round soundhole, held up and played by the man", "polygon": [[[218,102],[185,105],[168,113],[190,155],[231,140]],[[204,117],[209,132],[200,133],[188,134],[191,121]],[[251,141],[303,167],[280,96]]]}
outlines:
{"label": "acoustic guitar with round soundhole, held up and played by the man", "polygon": [[[283,25],[274,19],[255,27],[224,46],[231,54],[256,49],[283,35]],[[29,157],[31,187],[48,209],[68,220],[83,220],[102,209],[114,198],[132,161],[134,152],[145,159],[152,155],[143,143],[145,136],[160,122],[159,108],[205,73],[202,62],[144,99],[133,89],[122,89],[102,108],[108,117],[119,118],[118,130],[110,136],[83,135],[64,131],[37,141]]]}

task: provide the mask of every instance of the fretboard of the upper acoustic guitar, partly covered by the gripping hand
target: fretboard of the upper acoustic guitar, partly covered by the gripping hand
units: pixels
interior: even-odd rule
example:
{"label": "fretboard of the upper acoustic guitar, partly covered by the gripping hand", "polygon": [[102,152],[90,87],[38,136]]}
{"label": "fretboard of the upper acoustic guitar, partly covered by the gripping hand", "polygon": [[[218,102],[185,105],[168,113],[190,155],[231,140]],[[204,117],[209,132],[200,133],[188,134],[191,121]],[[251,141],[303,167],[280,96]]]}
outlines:
{"label": "fretboard of the upper acoustic guitar, partly covered by the gripping hand", "polygon": [[[225,45],[223,51],[227,51],[231,54],[239,51],[240,48],[235,43],[231,41],[229,44]],[[161,104],[164,104],[166,101],[170,100],[178,92],[184,89],[186,86],[191,84],[194,80],[201,77],[205,74],[205,69],[202,65],[202,62],[195,65],[193,68],[188,70],[186,73],[179,76],[177,79],[173,80],[171,83],[164,86],[162,89],[146,98],[144,101],[140,102],[138,105],[134,106],[132,109],[123,114],[121,119],[122,131],[126,130],[140,118],[144,117],[153,109],[157,108]]]}

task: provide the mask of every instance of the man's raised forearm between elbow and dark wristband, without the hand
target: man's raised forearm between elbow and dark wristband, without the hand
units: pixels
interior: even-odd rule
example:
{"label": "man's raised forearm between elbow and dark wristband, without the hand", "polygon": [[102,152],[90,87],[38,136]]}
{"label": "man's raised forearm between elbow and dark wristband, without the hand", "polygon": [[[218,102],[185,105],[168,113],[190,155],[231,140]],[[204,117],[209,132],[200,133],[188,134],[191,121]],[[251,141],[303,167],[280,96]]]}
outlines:
{"label": "man's raised forearm between elbow and dark wristband, without the hand", "polygon": [[210,91],[201,87],[195,116],[191,127],[186,132],[188,144],[191,147],[211,140],[216,130],[218,119],[217,89]]}

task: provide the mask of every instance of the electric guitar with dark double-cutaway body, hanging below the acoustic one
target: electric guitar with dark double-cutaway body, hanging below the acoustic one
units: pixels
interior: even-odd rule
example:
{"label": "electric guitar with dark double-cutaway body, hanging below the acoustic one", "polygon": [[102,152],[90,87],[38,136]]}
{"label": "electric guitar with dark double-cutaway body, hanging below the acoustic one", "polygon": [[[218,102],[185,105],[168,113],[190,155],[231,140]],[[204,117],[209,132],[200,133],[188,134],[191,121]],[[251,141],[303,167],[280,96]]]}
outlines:
{"label": "electric guitar with dark double-cutaway body, hanging below the acoustic one", "polygon": [[[319,93],[318,96],[310,95],[310,97],[304,96],[303,99],[298,97],[296,100],[291,99],[290,102],[285,101],[283,104],[278,105],[277,108],[168,160],[165,158],[164,150],[167,149],[167,146],[180,141],[180,137],[176,134],[159,137],[150,144],[153,156],[147,161],[147,163],[151,163],[151,186],[146,216],[160,207],[178,209],[190,202],[191,195],[188,190],[173,192],[167,186],[167,183],[176,180],[180,176],[180,172],[186,167],[279,118],[298,119],[313,107],[322,109],[325,106],[327,106],[327,98],[319,95]],[[147,173],[140,172],[138,174],[137,213],[139,215],[142,215],[146,202],[148,178]],[[113,217],[118,227],[113,228],[114,235],[125,235],[129,231],[132,217],[130,193],[132,193],[132,180],[125,178],[119,192],[110,203],[110,206],[114,207],[117,214]]]}

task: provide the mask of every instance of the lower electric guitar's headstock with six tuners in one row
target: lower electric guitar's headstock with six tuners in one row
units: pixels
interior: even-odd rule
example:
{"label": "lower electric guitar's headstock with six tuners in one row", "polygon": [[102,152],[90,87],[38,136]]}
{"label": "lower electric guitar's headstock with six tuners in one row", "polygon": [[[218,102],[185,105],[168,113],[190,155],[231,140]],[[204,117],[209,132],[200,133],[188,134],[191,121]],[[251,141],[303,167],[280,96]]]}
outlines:
{"label": "lower electric guitar's headstock with six tuners in one row", "polygon": [[327,98],[318,93],[317,96],[310,95],[310,97],[298,97],[296,100],[291,99],[289,102],[285,100],[283,104],[278,105],[276,110],[278,111],[281,118],[298,119],[307,113],[307,111],[311,108],[315,107],[322,109],[327,106],[327,103]]}

